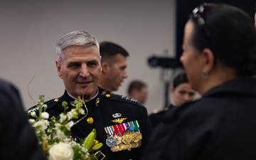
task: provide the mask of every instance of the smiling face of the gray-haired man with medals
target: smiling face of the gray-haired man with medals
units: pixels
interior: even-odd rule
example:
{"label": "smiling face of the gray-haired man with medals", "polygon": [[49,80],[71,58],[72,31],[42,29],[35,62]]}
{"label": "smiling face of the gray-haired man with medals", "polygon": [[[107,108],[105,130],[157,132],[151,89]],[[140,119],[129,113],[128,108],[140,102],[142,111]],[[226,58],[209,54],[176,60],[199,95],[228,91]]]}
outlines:
{"label": "smiling face of the gray-haired man with medals", "polygon": [[95,96],[102,70],[97,48],[69,46],[63,53],[62,60],[55,63],[65,90],[73,97],[83,96],[85,100]]}

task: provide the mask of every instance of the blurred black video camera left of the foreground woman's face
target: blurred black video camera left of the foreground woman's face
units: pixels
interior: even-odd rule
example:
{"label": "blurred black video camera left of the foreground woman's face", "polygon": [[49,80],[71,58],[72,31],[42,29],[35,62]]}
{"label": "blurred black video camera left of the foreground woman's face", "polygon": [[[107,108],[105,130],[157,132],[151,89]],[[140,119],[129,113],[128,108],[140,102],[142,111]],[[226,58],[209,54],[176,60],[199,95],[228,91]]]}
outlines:
{"label": "blurred black video camera left of the foreground woman's face", "polygon": [[152,68],[183,68],[181,61],[178,58],[157,57],[153,55],[149,57],[148,63]]}

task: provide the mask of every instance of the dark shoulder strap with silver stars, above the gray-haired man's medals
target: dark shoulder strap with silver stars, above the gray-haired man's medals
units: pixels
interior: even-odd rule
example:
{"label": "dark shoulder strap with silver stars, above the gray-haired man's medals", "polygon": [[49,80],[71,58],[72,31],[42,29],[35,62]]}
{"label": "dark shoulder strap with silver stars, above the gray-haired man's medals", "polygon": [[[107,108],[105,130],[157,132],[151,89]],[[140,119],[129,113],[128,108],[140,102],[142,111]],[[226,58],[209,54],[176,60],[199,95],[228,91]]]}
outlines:
{"label": "dark shoulder strap with silver stars, above the gray-haired man's medals", "polygon": [[104,95],[102,95],[102,97],[104,97],[104,99],[107,100],[108,102],[127,103],[129,105],[134,105],[134,106],[137,106],[137,107],[144,108],[144,106],[139,104],[139,102],[137,102],[137,100],[134,100],[130,97],[126,97],[126,96],[123,96],[123,95],[104,94]]}

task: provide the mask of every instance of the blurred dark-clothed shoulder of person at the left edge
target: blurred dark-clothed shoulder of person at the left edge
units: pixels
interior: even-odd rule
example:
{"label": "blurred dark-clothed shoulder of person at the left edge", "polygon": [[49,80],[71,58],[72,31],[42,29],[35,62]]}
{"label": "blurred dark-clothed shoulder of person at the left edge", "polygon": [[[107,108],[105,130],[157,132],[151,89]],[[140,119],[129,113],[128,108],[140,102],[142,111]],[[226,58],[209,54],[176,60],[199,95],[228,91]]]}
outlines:
{"label": "blurred dark-clothed shoulder of person at the left edge", "polygon": [[0,107],[0,159],[45,159],[18,90],[4,80],[0,80]]}

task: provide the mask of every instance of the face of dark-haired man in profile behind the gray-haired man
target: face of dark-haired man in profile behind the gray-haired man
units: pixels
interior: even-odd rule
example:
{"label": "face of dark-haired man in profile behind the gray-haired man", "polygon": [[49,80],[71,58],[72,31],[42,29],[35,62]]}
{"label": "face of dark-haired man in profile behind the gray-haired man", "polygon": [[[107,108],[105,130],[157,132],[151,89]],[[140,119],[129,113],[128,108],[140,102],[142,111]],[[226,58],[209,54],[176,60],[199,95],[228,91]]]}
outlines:
{"label": "face of dark-haired man in profile behind the gray-haired man", "polygon": [[122,85],[124,78],[127,78],[127,57],[117,54],[112,63],[107,64],[107,82],[110,91],[118,90]]}

